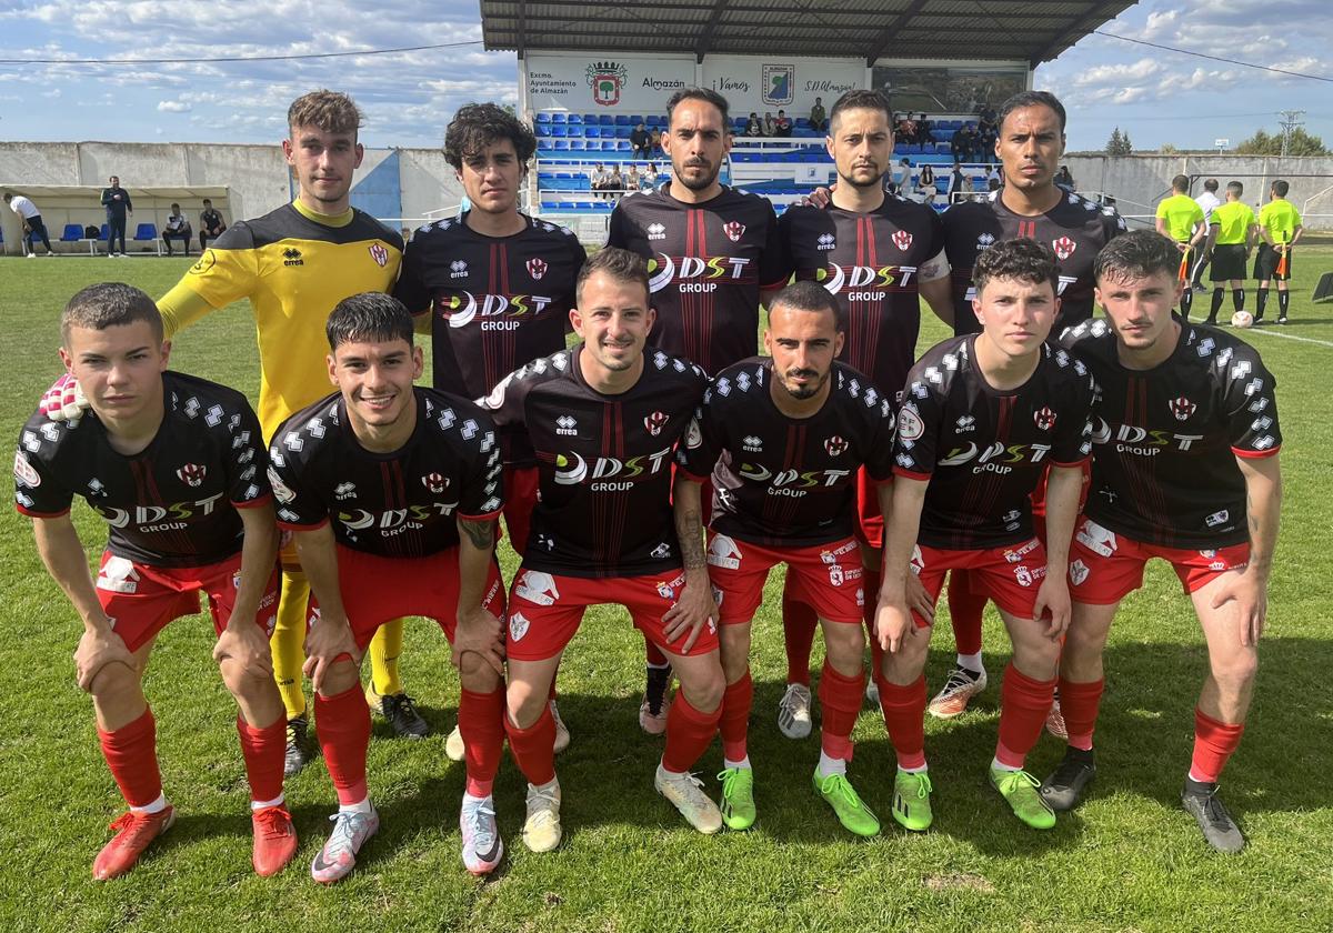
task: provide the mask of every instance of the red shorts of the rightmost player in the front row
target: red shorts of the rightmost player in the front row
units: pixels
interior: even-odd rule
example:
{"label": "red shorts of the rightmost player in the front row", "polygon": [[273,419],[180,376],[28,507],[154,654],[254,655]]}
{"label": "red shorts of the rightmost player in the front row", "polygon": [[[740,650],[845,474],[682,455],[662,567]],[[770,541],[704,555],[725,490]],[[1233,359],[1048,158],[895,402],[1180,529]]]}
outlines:
{"label": "red shorts of the rightmost player in the front row", "polygon": [[1213,577],[1244,569],[1249,564],[1249,542],[1217,550],[1161,548],[1080,517],[1069,550],[1069,596],[1090,605],[1118,602],[1144,585],[1144,565],[1150,557],[1168,561],[1185,592],[1193,593]]}

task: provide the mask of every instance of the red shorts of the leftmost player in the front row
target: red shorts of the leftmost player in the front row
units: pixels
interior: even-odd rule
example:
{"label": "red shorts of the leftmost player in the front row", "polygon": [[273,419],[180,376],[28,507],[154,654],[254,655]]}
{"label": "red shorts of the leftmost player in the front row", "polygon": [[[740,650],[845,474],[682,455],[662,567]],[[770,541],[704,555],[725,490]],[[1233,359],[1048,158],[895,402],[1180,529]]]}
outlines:
{"label": "red shorts of the leftmost player in the front row", "polygon": [[[173,618],[197,613],[200,593],[208,597],[213,630],[221,634],[232,617],[240,578],[240,554],[204,566],[149,566],[108,550],[97,569],[97,600],[125,648],[136,652]],[[275,566],[255,616],[265,634],[273,634],[277,621],[277,585]]]}

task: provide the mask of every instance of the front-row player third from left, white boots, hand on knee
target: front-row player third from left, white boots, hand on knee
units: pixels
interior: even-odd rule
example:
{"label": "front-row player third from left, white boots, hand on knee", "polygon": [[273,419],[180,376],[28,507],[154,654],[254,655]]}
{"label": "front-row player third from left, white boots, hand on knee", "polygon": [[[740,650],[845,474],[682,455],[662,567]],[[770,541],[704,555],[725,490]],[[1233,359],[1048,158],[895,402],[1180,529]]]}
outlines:
{"label": "front-row player third from left, white boots, hand on knee", "polygon": [[589,605],[624,605],[680,678],[666,714],[655,786],[696,829],[714,833],[717,805],[689,773],[721,716],[717,606],[704,560],[697,484],[672,505],[672,453],[708,377],[661,349],[648,267],[608,247],[579,273],[569,317],[581,344],[533,360],[485,400],[501,429],[521,427],[537,453],[532,537],[509,597],[505,730],[528,778],[523,838],[560,844],[555,720],[548,702],[560,654]]}

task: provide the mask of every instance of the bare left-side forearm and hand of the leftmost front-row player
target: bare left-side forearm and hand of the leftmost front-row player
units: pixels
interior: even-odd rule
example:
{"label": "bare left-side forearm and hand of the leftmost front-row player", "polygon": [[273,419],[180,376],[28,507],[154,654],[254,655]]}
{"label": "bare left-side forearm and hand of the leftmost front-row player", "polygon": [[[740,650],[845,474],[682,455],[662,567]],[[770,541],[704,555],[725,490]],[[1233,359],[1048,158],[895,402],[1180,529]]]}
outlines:
{"label": "bare left-side forearm and hand of the leftmost front-row player", "polygon": [[111,620],[101,609],[92,574],[88,572],[88,558],[69,514],[36,518],[32,526],[41,562],[69,598],[84,625],[79,649],[75,652],[75,670],[80,689],[91,690],[97,672],[112,662],[137,670],[133,656],[120,636],[112,630]]}

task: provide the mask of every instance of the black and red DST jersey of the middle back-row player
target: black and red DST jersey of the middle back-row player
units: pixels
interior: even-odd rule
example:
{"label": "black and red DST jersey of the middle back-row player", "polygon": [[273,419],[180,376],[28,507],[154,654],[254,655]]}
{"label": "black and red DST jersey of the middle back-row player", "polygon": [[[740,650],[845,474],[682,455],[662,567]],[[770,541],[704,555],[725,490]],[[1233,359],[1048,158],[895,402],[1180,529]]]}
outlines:
{"label": "black and red DST jersey of the middle back-row player", "polygon": [[668,183],[620,200],[607,245],[648,260],[657,309],[649,344],[709,375],[754,356],[760,289],[788,277],[766,199],[722,187],[704,204],[685,204]]}

